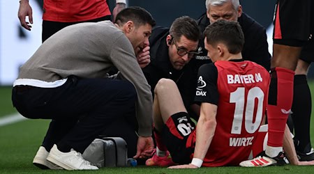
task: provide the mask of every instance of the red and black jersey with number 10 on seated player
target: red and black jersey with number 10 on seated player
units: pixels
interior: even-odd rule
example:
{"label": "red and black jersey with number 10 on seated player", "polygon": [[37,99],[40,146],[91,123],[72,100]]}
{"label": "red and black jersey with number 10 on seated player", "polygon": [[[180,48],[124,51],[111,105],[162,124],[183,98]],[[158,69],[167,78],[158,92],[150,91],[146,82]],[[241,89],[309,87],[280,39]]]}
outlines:
{"label": "red and black jersey with number 10 on seated player", "polygon": [[216,61],[200,68],[195,101],[218,106],[202,166],[237,166],[248,159],[266,111],[269,81],[269,72],[251,61]]}

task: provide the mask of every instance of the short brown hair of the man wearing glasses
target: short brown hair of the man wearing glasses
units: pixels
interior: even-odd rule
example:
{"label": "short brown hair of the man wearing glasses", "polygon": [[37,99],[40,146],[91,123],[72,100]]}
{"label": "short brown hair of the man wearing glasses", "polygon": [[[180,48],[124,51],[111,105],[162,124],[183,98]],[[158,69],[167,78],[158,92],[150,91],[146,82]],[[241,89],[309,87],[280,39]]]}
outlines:
{"label": "short brown hair of the man wearing glasses", "polygon": [[175,40],[179,40],[184,35],[188,40],[199,41],[202,35],[195,19],[188,16],[175,19],[170,26],[169,33]]}

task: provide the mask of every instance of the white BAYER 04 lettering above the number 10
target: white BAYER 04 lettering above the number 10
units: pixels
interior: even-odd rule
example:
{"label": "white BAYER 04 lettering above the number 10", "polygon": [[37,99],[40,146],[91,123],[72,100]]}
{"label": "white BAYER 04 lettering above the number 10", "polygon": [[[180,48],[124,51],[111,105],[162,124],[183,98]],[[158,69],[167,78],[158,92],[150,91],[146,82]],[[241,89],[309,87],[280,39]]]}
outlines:
{"label": "white BAYER 04 lettering above the number 10", "polygon": [[227,74],[228,84],[253,84],[263,81],[260,73],[255,74]]}

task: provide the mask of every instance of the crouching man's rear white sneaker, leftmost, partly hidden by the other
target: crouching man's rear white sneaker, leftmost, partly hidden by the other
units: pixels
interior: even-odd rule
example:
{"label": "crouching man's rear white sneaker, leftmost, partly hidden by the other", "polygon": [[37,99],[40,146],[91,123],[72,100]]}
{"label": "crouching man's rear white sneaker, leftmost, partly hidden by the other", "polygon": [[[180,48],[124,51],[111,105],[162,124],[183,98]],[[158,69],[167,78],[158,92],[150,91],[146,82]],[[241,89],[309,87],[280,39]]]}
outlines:
{"label": "crouching man's rear white sneaker, leftmost, partly hidden by the other", "polygon": [[47,156],[49,152],[45,149],[45,147],[40,146],[35,157],[33,158],[33,165],[37,166],[41,169],[63,169],[56,164],[52,164],[50,161],[47,161]]}

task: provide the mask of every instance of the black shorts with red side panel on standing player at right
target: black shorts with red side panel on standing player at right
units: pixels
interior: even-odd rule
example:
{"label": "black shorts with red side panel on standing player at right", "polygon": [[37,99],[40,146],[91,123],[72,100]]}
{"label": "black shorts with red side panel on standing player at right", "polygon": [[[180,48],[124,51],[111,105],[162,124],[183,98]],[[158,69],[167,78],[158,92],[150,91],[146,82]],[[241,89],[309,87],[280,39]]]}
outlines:
{"label": "black shorts with red side panel on standing player at right", "polygon": [[274,43],[301,47],[313,32],[313,0],[278,0],[274,17]]}

